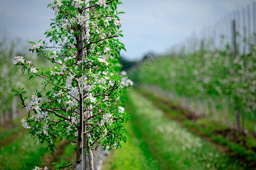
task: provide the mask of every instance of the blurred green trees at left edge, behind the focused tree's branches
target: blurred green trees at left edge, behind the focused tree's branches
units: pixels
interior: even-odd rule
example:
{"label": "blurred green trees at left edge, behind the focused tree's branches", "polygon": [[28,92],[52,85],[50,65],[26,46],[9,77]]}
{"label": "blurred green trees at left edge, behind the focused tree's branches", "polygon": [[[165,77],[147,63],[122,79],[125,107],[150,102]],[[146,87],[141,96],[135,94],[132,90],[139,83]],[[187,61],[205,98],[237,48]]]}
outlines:
{"label": "blurred green trees at left edge, behind the focused tree's branches", "polygon": [[19,87],[25,87],[26,91],[32,92],[35,87],[40,86],[40,82],[36,79],[28,82],[26,74],[20,73],[18,67],[14,67],[14,56],[26,56],[27,59],[32,60],[34,63],[44,63],[40,57],[32,56],[31,54],[25,54],[22,52],[16,52],[15,42],[7,44],[6,41],[0,42],[0,120],[1,123],[9,120],[10,118],[16,118],[18,111],[16,105],[18,105],[18,98],[11,92],[12,89]]}

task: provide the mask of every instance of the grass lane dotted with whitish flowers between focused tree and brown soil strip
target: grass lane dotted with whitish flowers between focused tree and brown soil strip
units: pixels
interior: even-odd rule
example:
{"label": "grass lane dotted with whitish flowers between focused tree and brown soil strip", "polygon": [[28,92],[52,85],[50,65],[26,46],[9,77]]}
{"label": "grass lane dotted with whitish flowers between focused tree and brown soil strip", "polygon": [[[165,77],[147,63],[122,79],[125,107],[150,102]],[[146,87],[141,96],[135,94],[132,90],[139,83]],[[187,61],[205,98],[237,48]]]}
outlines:
{"label": "grass lane dotted with whitish flowers between focused tree and brown soil strip", "polygon": [[161,169],[247,169],[245,164],[165,116],[142,95],[133,92],[128,105],[137,136],[139,133],[147,143]]}

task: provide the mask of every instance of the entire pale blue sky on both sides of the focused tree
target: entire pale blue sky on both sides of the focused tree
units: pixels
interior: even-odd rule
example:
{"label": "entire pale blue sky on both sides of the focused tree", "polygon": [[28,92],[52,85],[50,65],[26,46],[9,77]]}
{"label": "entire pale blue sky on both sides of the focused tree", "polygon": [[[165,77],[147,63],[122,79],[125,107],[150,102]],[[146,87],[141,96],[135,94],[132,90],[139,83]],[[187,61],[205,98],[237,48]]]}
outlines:
{"label": "entire pale blue sky on both sides of the focused tree", "polygon": [[[234,10],[255,0],[123,0],[118,6],[123,24],[127,59],[140,59],[147,52],[167,53],[193,31],[213,24]],[[20,38],[23,42],[45,39],[53,11],[49,0],[1,0],[0,36]],[[28,46],[28,45],[27,45]]]}

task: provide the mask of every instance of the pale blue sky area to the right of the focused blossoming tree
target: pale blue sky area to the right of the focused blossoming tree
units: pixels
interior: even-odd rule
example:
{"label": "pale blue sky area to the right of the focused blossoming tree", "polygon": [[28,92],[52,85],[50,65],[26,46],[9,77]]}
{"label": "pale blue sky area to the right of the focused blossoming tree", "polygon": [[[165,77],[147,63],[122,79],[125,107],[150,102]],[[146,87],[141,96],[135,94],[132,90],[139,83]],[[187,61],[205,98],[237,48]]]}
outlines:
{"label": "pale blue sky area to the right of the focused blossoming tree", "polygon": [[130,58],[142,56],[148,49],[164,52],[209,24],[214,24],[229,12],[252,0],[159,0],[123,1],[119,9],[126,12],[122,41]]}

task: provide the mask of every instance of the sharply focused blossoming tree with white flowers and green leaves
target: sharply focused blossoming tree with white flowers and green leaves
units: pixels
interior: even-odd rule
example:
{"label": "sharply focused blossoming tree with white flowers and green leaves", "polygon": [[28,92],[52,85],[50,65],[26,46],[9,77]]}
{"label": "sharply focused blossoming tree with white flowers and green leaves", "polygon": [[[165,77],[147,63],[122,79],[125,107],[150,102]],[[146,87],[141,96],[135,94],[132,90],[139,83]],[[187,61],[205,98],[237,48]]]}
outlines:
{"label": "sharply focused blossoming tree with white flowers and green leaves", "polygon": [[45,69],[22,56],[14,59],[14,65],[22,73],[26,71],[30,79],[43,79],[43,88],[31,95],[30,103],[26,102],[24,88],[13,90],[21,99],[19,106],[28,111],[28,117],[22,120],[24,128],[40,143],[46,142],[52,154],[57,138],[76,143],[77,164],[81,162],[82,136],[89,156],[96,142],[112,149],[126,141],[123,123],[128,116],[119,96],[127,83],[118,75],[117,65],[119,52],[125,48],[114,39],[122,36],[119,3],[52,2],[48,7],[55,11],[55,19],[45,34],[53,45],[30,42],[30,50],[55,66]]}

